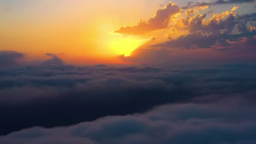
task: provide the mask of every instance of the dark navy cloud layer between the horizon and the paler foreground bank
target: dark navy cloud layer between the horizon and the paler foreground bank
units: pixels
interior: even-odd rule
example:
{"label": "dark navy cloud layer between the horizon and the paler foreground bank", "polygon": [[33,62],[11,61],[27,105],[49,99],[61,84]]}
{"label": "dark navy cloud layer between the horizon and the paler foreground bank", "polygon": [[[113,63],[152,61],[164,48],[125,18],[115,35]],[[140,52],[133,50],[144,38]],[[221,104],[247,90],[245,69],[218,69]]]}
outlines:
{"label": "dark navy cloud layer between the horizon and the paler foreground bank", "polygon": [[211,103],[234,97],[255,101],[254,69],[253,65],[0,69],[0,132],[73,125],[168,103]]}

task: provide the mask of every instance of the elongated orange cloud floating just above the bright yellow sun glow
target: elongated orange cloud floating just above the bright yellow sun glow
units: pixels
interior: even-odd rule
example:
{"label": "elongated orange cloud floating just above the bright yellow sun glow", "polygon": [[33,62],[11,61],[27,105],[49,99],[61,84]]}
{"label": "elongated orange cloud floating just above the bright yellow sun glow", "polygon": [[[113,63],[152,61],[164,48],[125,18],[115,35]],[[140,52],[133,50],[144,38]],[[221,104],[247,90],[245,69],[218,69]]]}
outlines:
{"label": "elongated orange cloud floating just above the bright yellow sun glow", "polygon": [[172,16],[180,13],[180,11],[181,9],[176,4],[170,2],[164,8],[156,11],[155,16],[148,21],[141,20],[136,26],[121,27],[115,33],[140,35],[150,31],[164,29],[168,26]]}

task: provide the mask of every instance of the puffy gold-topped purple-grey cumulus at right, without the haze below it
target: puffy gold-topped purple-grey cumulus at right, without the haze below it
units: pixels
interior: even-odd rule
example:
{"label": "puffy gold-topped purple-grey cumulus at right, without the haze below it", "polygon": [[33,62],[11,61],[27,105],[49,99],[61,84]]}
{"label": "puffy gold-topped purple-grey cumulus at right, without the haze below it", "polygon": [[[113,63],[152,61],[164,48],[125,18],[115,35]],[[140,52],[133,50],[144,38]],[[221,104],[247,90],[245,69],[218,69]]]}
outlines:
{"label": "puffy gold-topped purple-grey cumulus at right, without the haze below it", "polygon": [[[242,41],[241,38],[252,39],[255,41],[256,31],[248,27],[254,27],[254,14],[236,16],[234,11],[238,7],[234,7],[231,11],[225,11],[222,14],[214,14],[210,20],[206,20],[206,14],[197,14],[188,18],[181,19],[179,25],[183,28],[188,28],[190,34],[182,35],[181,37],[162,44],[156,44],[156,47],[181,47],[185,49],[201,49],[209,48],[214,50],[229,49],[230,46],[234,47],[235,41]],[[189,13],[190,14],[190,13]],[[190,14],[191,15],[191,14]],[[249,19],[247,17],[250,17]],[[254,17],[254,18],[253,18]],[[236,33],[234,33],[236,31]],[[237,33],[239,32],[239,34]],[[229,41],[233,41],[229,43]],[[219,47],[216,46],[218,44]],[[248,40],[243,41],[246,47],[253,48],[254,43]],[[240,45],[236,45],[240,47]],[[241,48],[241,47],[240,47]],[[246,52],[244,49],[243,52]]]}

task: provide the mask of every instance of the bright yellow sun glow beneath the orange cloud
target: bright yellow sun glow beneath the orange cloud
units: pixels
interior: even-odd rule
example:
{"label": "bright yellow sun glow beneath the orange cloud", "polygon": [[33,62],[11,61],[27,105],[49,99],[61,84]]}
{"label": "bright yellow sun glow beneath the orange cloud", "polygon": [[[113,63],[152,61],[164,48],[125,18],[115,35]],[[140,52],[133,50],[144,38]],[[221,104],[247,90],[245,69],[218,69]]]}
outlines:
{"label": "bright yellow sun glow beneath the orange cloud", "polygon": [[148,39],[132,39],[123,38],[121,40],[113,40],[110,44],[111,49],[118,53],[118,55],[124,55],[128,57],[131,52],[136,50],[139,46],[146,43]]}

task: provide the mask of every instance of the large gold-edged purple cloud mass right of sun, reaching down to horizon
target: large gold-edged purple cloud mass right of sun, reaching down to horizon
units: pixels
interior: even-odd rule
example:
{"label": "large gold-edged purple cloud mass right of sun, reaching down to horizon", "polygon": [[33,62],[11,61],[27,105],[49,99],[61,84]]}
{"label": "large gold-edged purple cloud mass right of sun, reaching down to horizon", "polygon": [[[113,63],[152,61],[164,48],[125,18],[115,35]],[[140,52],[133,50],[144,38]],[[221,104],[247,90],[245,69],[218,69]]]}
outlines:
{"label": "large gold-edged purple cloud mass right of sun, reaching down to horizon", "polygon": [[200,14],[205,7],[184,11],[186,17],[179,17],[155,37],[160,40],[149,41],[130,57],[121,58],[139,64],[219,62],[217,57],[225,62],[254,61],[255,14],[238,15],[237,8],[210,18]]}

